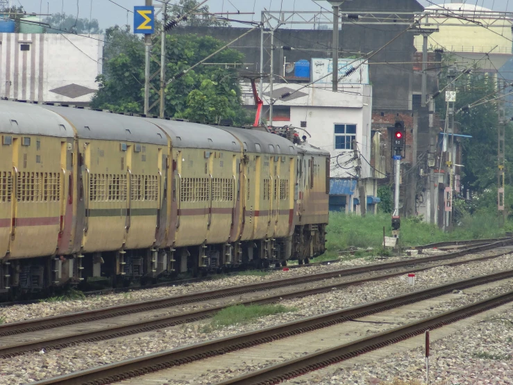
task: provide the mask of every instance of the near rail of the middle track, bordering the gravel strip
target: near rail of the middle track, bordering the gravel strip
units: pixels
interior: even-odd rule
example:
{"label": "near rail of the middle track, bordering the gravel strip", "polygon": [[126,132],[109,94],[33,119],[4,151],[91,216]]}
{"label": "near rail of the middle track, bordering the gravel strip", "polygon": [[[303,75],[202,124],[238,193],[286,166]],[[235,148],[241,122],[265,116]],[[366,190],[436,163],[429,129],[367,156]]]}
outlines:
{"label": "near rail of the middle track, bordering the gravel strip", "polygon": [[[151,318],[140,318],[134,320],[135,316],[128,319],[122,318],[112,324],[106,324],[100,322],[98,325],[84,325],[81,323],[78,327],[63,327],[61,329],[55,329],[52,331],[52,336],[48,337],[47,333],[35,334],[34,336],[27,336],[27,334],[19,334],[19,338],[15,336],[14,331],[6,338],[8,343],[5,344],[3,338],[0,337],[0,358],[12,357],[15,355],[23,354],[26,352],[37,351],[37,350],[53,350],[62,349],[64,347],[75,345],[77,343],[86,343],[91,341],[100,341],[110,338],[118,338],[121,336],[128,336],[131,334],[143,333],[156,329],[163,329],[165,327],[173,327],[186,322],[194,322],[197,320],[203,320],[213,316],[218,311],[226,309],[228,306],[234,305],[249,305],[249,304],[269,304],[279,302],[281,300],[290,300],[292,298],[306,297],[308,295],[316,295],[319,293],[326,293],[334,289],[342,289],[349,286],[355,286],[364,284],[369,281],[378,281],[382,279],[389,279],[398,275],[405,275],[409,272],[419,272],[422,270],[428,270],[431,268],[439,267],[441,265],[461,265],[469,263],[471,261],[483,261],[490,258],[495,258],[502,255],[494,254],[494,256],[482,256],[476,259],[441,263],[437,265],[429,265],[414,270],[396,270],[394,272],[386,272],[381,275],[373,277],[364,277],[360,279],[353,279],[350,281],[342,282],[329,282],[328,284],[321,284],[313,288],[303,288],[294,290],[288,293],[274,293],[273,295],[266,294],[261,297],[253,297],[248,300],[239,300],[237,302],[227,302],[219,306],[212,306],[208,309],[187,311],[178,314],[166,315],[166,316],[152,316]],[[0,328],[1,330],[1,328]],[[43,337],[43,338],[41,338]],[[5,338],[5,337],[4,337]],[[12,343],[13,340],[18,341]]]}

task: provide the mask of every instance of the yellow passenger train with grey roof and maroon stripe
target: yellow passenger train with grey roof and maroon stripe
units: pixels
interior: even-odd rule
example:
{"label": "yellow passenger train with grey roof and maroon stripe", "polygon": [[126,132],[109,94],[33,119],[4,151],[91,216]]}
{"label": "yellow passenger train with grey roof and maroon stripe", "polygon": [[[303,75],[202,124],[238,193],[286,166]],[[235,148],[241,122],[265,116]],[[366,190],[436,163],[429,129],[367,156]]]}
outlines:
{"label": "yellow passenger train with grey roof and maroon stripe", "polygon": [[0,293],[325,252],[330,154],[267,128],[0,101]]}

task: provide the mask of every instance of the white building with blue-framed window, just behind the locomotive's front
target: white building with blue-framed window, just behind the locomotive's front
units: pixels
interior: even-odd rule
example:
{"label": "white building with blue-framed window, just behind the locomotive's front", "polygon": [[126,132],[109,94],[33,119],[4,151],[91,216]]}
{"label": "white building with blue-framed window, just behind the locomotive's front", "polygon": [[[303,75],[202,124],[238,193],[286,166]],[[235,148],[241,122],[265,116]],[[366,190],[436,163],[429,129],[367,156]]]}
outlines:
{"label": "white building with blue-framed window, just behind the locomotive's front", "polygon": [[[315,61],[317,60],[317,61]],[[328,59],[320,59],[328,60]],[[313,59],[312,79],[319,79],[323,73],[319,69],[322,63]],[[324,68],[330,72],[329,65]],[[367,72],[368,74],[368,72]],[[304,83],[278,83],[274,85],[272,99],[274,102],[273,126],[293,126],[298,132],[305,131],[307,141],[330,151],[330,177],[332,193],[330,204],[345,207],[346,212],[360,211],[358,199],[369,199],[370,204],[378,200],[377,181],[371,172],[371,120],[372,120],[372,86],[368,84],[365,72],[354,74],[363,83],[339,83],[339,92],[333,92],[328,83],[331,79],[323,78],[318,83],[305,87]],[[246,105],[254,105],[251,86],[243,87]],[[286,92],[290,96],[281,99]],[[263,114],[268,118],[269,84],[263,84]],[[268,121],[269,122],[269,121]],[[358,153],[356,152],[358,151]],[[358,183],[357,183],[358,181]],[[333,194],[333,186],[336,193]]]}

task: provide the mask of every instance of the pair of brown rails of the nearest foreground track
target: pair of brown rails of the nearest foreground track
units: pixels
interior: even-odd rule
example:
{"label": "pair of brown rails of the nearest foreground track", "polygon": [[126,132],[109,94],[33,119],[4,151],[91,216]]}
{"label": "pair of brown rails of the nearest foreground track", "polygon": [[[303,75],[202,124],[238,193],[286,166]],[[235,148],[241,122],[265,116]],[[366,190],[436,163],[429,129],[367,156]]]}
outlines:
{"label": "pair of brown rails of the nearest foreground track", "polygon": [[[227,354],[237,350],[243,350],[256,345],[278,341],[283,338],[298,336],[309,331],[315,331],[326,327],[333,327],[347,322],[369,316],[372,314],[388,311],[405,305],[411,305],[415,302],[421,302],[433,297],[438,297],[453,290],[462,290],[472,286],[479,286],[489,282],[500,281],[501,279],[511,279],[513,270],[497,272],[483,277],[474,277],[463,281],[452,282],[426,290],[419,290],[407,295],[387,298],[369,304],[353,306],[351,308],[324,313],[320,316],[303,318],[293,322],[287,322],[274,327],[267,327],[242,334],[236,334],[225,338],[218,338],[213,341],[196,343],[185,347],[179,347],[173,350],[158,352],[128,359],[117,363],[99,366],[81,372],[74,372],[69,375],[63,375],[52,379],[46,379],[35,384],[37,385],[68,385],[68,384],[111,384],[124,379],[145,375],[151,372],[158,372],[167,368],[175,368],[185,363],[215,357],[217,355]],[[258,370],[241,377],[236,377],[223,382],[227,384],[277,384],[285,379],[296,377],[310,370],[316,370],[323,366],[342,361],[355,355],[378,349],[402,339],[423,333],[426,329],[441,327],[455,320],[466,318],[481,311],[486,311],[501,304],[513,301],[513,291],[503,295],[492,297],[488,300],[463,306],[455,311],[447,311],[438,316],[423,319],[419,322],[412,322],[402,327],[387,330],[382,333],[373,334],[366,338],[360,338],[357,341],[346,343],[344,345],[331,347],[321,352],[315,352],[284,363],[280,363],[269,368]],[[155,374],[158,377],[158,373]],[[156,377],[152,377],[156,378]],[[135,380],[135,383],[138,383]],[[155,382],[158,383],[158,382]]]}

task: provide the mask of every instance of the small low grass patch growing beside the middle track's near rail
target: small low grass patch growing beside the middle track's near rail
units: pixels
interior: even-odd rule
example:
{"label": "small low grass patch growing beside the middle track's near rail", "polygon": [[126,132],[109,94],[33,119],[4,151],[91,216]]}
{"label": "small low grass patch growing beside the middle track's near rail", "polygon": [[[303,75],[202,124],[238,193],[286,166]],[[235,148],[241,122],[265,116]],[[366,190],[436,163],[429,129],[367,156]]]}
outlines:
{"label": "small low grass patch growing beside the middle track's near rail", "polygon": [[236,305],[230,306],[217,313],[210,324],[204,329],[205,332],[220,329],[235,324],[246,324],[257,318],[271,316],[271,314],[288,313],[296,311],[295,308],[283,305]]}

